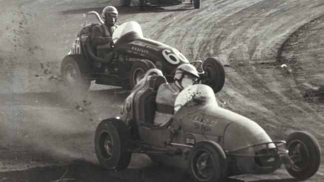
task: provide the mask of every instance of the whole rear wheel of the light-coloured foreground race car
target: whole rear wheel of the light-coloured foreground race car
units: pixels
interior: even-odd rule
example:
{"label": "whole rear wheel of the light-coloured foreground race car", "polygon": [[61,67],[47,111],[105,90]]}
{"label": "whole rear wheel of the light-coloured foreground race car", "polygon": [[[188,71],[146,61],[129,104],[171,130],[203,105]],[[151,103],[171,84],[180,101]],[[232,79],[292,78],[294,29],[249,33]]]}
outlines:
{"label": "whole rear wheel of the light-coloured foreground race car", "polygon": [[95,134],[95,150],[99,163],[108,170],[127,169],[132,153],[127,149],[131,144],[131,135],[126,124],[115,118],[99,123]]}

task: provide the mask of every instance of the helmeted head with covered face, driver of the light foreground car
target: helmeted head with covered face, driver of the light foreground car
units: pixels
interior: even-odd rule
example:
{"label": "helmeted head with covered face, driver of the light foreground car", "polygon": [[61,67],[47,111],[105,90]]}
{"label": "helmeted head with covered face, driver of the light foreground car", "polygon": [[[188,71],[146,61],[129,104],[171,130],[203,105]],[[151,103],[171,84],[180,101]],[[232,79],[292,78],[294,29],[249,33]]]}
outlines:
{"label": "helmeted head with covered face, driver of the light foreground car", "polygon": [[198,78],[198,71],[190,64],[182,64],[178,66],[174,74],[175,84],[181,90],[194,84]]}

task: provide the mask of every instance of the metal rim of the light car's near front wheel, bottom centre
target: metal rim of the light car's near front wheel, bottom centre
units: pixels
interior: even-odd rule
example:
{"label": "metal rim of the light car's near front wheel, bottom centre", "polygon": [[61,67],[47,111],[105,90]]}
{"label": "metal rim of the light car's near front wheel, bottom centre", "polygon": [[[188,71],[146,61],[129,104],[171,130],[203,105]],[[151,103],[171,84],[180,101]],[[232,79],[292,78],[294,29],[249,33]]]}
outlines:
{"label": "metal rim of the light car's near front wheel, bottom centre", "polygon": [[215,171],[215,159],[212,154],[204,149],[193,154],[191,168],[194,176],[200,181],[209,180]]}

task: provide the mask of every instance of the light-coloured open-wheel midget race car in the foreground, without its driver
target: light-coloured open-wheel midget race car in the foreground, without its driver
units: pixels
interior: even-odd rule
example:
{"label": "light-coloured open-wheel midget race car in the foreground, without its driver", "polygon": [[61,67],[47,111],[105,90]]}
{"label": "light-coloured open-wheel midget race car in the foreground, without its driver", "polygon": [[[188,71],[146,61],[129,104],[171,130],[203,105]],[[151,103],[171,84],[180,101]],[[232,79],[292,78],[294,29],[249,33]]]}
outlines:
{"label": "light-coloured open-wheel midget race car in the foreground, without its driver", "polygon": [[273,141],[256,122],[218,106],[213,90],[203,84],[181,91],[173,117],[163,127],[155,125],[157,90],[166,82],[161,71],[149,70],[125,100],[121,115],[99,123],[95,151],[104,168],[124,170],[132,153],[142,153],[188,170],[196,182],[268,174],[282,164],[298,180],[318,171],[321,152],[313,135],[299,131],[286,141]]}

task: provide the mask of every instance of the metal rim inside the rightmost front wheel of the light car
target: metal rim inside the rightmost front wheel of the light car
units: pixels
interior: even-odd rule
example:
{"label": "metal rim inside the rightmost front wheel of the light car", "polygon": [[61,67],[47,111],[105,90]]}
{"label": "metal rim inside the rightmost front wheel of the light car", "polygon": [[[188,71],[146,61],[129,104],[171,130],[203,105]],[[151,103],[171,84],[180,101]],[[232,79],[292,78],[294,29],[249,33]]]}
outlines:
{"label": "metal rim inside the rightmost front wheel of the light car", "polygon": [[293,140],[288,145],[289,158],[293,162],[292,169],[294,171],[303,171],[308,167],[310,161],[310,153],[304,142]]}

